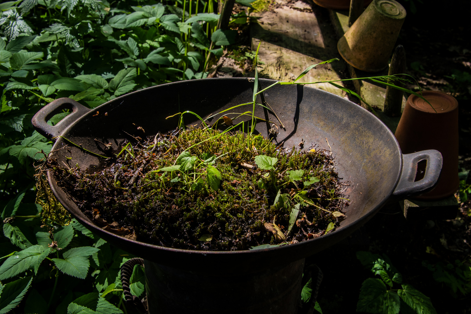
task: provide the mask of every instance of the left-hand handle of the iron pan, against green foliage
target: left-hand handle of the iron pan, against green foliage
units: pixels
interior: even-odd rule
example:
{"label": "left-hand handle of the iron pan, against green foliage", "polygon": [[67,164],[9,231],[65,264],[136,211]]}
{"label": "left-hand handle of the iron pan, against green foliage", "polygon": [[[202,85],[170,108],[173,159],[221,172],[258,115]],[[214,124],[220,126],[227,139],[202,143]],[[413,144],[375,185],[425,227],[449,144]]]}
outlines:
{"label": "left-hand handle of the iron pan, against green foliage", "polygon": [[[70,109],[72,113],[67,115],[59,123],[52,126],[48,124],[48,120],[55,114],[60,113],[63,109]],[[70,98],[58,98],[53,102],[45,105],[32,117],[31,123],[34,129],[44,137],[51,139],[61,135],[64,130],[85,113],[90,112],[91,109],[79,104]]]}

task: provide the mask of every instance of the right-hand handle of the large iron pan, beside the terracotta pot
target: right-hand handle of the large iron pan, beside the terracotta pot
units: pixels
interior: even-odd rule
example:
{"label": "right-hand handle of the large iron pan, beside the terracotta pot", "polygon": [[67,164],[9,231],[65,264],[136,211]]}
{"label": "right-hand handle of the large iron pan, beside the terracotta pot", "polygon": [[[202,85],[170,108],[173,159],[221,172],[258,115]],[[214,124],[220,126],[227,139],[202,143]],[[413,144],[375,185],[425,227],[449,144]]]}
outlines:
{"label": "right-hand handle of the large iron pan, beside the terracotta pot", "polygon": [[[417,164],[422,160],[427,161],[425,175],[422,180],[414,182]],[[392,195],[405,199],[411,195],[418,195],[430,190],[437,184],[442,164],[441,153],[434,149],[402,155],[402,173]]]}

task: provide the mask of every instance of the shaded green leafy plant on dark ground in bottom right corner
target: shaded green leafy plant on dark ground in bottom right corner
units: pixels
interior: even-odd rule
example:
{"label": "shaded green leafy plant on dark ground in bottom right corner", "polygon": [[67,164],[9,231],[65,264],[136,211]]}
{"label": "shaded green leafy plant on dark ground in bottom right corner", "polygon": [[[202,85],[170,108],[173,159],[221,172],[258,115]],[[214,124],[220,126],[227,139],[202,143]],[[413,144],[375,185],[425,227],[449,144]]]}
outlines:
{"label": "shaded green leafy plant on dark ground in bottom right corner", "polygon": [[402,289],[392,289],[394,283],[402,283],[402,275],[391,265],[386,255],[358,251],[357,258],[365,269],[369,269],[378,278],[366,279],[360,289],[357,312],[377,314],[436,314],[430,298],[416,290],[410,284],[402,284]]}

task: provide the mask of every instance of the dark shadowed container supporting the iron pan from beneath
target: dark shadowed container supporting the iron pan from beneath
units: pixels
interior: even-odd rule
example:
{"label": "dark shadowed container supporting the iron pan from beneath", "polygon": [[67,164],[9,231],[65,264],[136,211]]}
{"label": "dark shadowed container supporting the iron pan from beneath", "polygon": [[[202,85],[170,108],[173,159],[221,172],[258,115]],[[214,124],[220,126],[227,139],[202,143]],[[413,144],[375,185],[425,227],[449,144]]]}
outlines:
{"label": "dark shadowed container supporting the iron pan from beneath", "polygon": [[303,267],[304,258],[257,272],[227,274],[144,260],[148,313],[298,313]]}

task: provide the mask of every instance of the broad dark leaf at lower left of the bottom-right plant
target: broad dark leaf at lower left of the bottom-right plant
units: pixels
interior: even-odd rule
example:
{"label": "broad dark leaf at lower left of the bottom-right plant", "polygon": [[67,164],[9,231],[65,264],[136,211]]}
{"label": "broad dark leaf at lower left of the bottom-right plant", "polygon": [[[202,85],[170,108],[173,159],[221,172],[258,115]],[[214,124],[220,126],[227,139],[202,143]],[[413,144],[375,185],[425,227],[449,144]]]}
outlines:
{"label": "broad dark leaf at lower left of the bottom-right plant", "polygon": [[387,290],[381,279],[368,278],[361,285],[357,312],[398,314],[399,306],[398,294]]}

